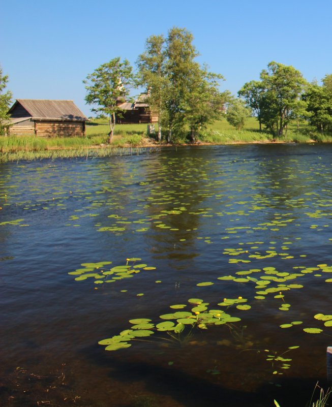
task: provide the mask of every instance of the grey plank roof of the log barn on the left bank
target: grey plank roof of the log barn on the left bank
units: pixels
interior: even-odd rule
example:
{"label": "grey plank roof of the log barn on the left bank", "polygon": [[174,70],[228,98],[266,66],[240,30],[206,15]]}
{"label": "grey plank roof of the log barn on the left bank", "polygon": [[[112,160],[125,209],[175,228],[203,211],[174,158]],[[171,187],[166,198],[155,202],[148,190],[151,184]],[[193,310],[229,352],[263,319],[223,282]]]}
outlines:
{"label": "grey plank roof of the log barn on the left bank", "polygon": [[[14,105],[8,113],[12,117],[27,116],[21,113],[22,108],[32,119],[51,119],[51,120],[73,120],[85,121],[87,118],[78,109],[72,100],[38,100],[38,99],[16,99]],[[15,113],[15,110],[17,112]]]}

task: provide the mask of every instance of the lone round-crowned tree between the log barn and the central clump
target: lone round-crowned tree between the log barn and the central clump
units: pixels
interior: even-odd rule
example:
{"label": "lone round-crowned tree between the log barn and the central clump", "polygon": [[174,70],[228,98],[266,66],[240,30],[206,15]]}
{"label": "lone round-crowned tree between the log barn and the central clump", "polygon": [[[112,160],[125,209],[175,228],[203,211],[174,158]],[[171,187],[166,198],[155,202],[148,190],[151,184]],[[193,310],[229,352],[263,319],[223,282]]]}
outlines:
{"label": "lone round-crowned tree between the log barn and the central clump", "polygon": [[94,105],[93,112],[109,117],[108,142],[111,143],[114,134],[116,115],[123,112],[119,101],[129,93],[133,81],[132,67],[127,59],[123,62],[119,57],[101,65],[83,80],[87,91],[85,102]]}

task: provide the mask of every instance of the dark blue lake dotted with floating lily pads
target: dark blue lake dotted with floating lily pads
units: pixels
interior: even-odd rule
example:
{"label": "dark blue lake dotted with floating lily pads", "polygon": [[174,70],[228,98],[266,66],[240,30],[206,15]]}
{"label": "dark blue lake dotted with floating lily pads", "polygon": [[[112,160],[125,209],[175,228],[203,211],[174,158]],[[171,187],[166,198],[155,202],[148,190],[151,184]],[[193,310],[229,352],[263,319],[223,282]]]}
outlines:
{"label": "dark blue lake dotted with floating lily pads", "polygon": [[332,145],[1,164],[0,207],[1,405],[285,407],[326,386]]}

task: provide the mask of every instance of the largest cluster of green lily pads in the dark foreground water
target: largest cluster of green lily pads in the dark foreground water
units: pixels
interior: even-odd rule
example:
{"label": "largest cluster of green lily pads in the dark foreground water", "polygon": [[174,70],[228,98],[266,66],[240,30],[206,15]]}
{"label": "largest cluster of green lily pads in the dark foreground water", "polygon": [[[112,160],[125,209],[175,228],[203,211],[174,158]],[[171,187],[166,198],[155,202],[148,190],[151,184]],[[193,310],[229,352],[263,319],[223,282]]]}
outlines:
{"label": "largest cluster of green lily pads in the dark foreground water", "polygon": [[[244,298],[224,299],[218,305],[228,307],[246,301]],[[160,315],[159,318],[162,321],[157,324],[148,318],[132,319],[129,321],[132,324],[130,329],[126,329],[111,338],[102,339],[98,343],[99,345],[106,345],[106,351],[116,351],[129,348],[131,341],[142,340],[142,338],[150,337],[156,332],[166,332],[173,339],[180,341],[179,335],[184,332],[186,327],[207,329],[209,325],[225,325],[240,321],[240,318],[232,317],[222,308],[208,308],[209,303],[203,302],[200,298],[190,298],[188,303],[192,307],[190,311],[174,311]],[[187,304],[175,304],[170,305],[170,308],[184,309],[187,306]],[[240,305],[237,305],[237,308],[243,309]]]}

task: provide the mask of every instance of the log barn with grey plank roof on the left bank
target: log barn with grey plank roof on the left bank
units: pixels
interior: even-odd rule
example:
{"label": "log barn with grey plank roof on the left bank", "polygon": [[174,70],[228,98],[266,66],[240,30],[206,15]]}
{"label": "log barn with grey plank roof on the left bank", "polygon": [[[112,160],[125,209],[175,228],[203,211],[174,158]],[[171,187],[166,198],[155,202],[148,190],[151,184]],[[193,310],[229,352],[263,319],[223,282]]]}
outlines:
{"label": "log barn with grey plank roof on the left bank", "polygon": [[87,118],[71,100],[17,99],[8,114],[11,116],[11,135],[85,135]]}

